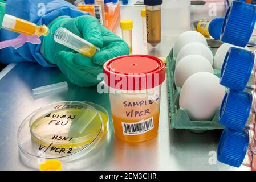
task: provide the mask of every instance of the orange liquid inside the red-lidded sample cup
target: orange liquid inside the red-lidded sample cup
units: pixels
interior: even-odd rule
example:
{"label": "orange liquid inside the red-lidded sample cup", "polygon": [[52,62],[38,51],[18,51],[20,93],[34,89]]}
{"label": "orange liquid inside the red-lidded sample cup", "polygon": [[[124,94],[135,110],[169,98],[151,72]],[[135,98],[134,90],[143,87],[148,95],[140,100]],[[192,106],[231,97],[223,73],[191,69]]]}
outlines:
{"label": "orange liquid inside the red-lidded sample cup", "polygon": [[[123,108],[123,107],[122,107]],[[139,110],[141,111],[141,114],[143,116],[141,117],[126,117],[127,111],[131,111],[132,110]],[[149,109],[150,113],[147,113],[147,109]],[[120,111],[120,110],[119,110]],[[158,128],[159,128],[159,104],[152,104],[152,105],[145,105],[143,107],[130,107],[127,109],[123,109],[120,111],[120,113],[123,115],[123,117],[115,115],[112,113],[112,119],[113,119],[113,126],[114,126],[114,131],[115,131],[115,135],[117,138],[120,138],[122,140],[128,141],[128,142],[143,142],[146,140],[150,140],[154,137],[156,137],[157,133],[158,133]],[[133,113],[134,114],[134,113]],[[122,122],[123,123],[137,123],[140,122],[142,119],[147,120],[149,118],[153,117],[153,129],[148,130],[145,133],[141,133],[141,134],[137,134],[137,135],[125,135],[123,132],[123,126],[122,126]]]}

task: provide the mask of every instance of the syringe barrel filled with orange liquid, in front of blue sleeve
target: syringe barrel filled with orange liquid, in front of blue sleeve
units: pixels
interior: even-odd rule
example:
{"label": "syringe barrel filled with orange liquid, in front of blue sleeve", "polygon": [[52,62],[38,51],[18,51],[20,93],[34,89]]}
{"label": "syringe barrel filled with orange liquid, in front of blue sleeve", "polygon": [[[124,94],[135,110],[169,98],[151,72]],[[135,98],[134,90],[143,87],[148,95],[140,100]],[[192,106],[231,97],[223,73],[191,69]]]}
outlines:
{"label": "syringe barrel filled with orange liquid, in front of blue sleeve", "polygon": [[50,33],[49,28],[45,25],[38,26],[34,23],[8,14],[5,14],[3,18],[2,28],[27,36],[47,36]]}

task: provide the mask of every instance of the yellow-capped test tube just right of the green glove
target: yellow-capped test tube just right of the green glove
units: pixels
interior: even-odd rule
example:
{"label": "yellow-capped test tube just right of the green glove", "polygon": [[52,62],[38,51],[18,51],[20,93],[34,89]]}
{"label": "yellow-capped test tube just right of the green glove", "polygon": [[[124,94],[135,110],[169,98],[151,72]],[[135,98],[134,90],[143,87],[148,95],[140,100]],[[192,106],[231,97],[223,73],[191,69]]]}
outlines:
{"label": "yellow-capped test tube just right of the green glove", "polygon": [[132,28],[133,21],[130,19],[124,19],[120,21],[120,27],[122,30],[122,38],[129,46],[129,52],[132,53]]}

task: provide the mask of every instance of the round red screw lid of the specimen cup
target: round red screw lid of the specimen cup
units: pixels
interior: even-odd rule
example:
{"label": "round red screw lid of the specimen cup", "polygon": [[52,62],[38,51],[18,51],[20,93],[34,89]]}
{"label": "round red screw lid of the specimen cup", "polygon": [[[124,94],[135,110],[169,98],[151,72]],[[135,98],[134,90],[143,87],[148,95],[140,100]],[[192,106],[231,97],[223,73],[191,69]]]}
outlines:
{"label": "round red screw lid of the specimen cup", "polygon": [[120,90],[151,89],[165,80],[165,64],[148,55],[115,57],[104,64],[103,72],[105,84]]}

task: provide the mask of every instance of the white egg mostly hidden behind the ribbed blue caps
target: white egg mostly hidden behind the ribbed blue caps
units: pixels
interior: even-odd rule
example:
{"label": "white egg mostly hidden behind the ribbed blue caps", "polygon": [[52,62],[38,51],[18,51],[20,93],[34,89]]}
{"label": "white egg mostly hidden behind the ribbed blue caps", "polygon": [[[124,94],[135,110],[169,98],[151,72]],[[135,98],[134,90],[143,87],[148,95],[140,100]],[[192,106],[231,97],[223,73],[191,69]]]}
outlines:
{"label": "white egg mostly hidden behind the ribbed blue caps", "polygon": [[214,61],[213,61],[213,68],[214,69],[220,69],[221,70],[222,64],[223,64],[224,59],[225,59],[225,56],[227,54],[227,51],[229,51],[230,47],[237,47],[237,48],[241,48],[241,49],[245,49],[245,50],[249,51],[249,48],[247,46],[246,47],[238,47],[238,46],[234,46],[234,45],[228,44],[228,43],[222,44],[218,48],[218,50],[217,50],[217,52],[214,56]]}

